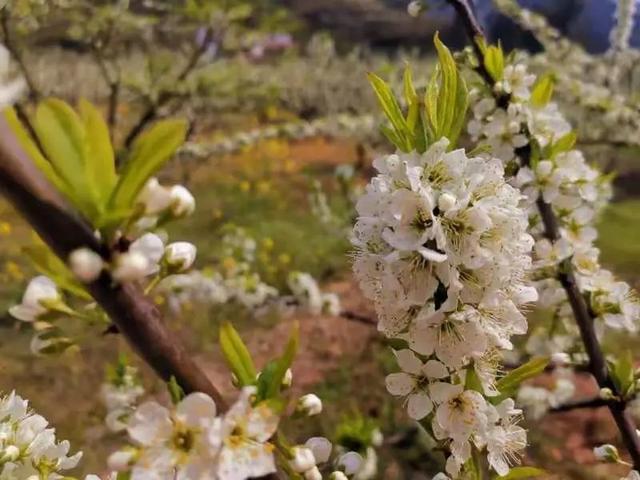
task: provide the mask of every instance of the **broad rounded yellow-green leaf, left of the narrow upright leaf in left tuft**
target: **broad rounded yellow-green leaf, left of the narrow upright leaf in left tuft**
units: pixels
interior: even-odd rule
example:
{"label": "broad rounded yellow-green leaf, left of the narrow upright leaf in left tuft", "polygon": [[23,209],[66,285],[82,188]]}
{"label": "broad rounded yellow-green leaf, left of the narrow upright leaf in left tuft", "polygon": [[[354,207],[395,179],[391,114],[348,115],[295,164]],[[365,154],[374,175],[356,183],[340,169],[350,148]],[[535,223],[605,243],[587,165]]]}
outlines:
{"label": "broad rounded yellow-green leaf, left of the narrow upright leaf in left tuft", "polygon": [[97,192],[87,181],[86,132],[78,114],[62,100],[43,100],[36,109],[33,128],[53,169],[67,185],[75,206],[94,219]]}

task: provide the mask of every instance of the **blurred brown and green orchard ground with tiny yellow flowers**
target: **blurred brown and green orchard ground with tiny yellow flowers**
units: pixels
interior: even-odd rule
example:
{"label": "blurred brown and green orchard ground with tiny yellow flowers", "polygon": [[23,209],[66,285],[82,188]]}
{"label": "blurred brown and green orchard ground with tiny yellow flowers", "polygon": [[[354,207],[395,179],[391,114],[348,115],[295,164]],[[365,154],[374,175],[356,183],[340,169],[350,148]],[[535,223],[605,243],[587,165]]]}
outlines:
{"label": "blurred brown and green orchard ground with tiny yellow flowers", "polygon": [[[287,272],[310,272],[324,289],[341,296],[345,309],[372,316],[350,274],[349,242],[342,227],[348,225],[352,207],[338,192],[334,179],[337,165],[356,162],[356,145],[321,138],[295,143],[269,141],[225,158],[174,162],[163,178],[186,183],[198,208],[193,217],[175,225],[170,238],[196,244],[200,267],[220,267],[224,259],[220,258],[218,241],[228,228],[225,225],[244,227],[258,241],[258,269],[266,282],[283,288]],[[362,177],[359,180],[364,184]],[[345,225],[326,226],[312,215],[308,195],[313,180],[322,182],[336,216]],[[640,287],[640,190],[614,203],[603,215],[599,231],[603,262]],[[33,239],[28,227],[0,203],[0,312],[19,300],[25,283],[35,273],[20,256],[21,247]],[[383,432],[392,432],[380,450],[383,468],[379,478],[425,478],[414,475],[435,468],[428,445],[413,441],[419,433],[407,422],[400,402],[385,393],[384,374],[393,362],[374,327],[341,317],[304,314],[256,319],[237,306],[193,305],[182,319],[169,318],[198,362],[230,396],[233,387],[215,342],[223,319],[234,322],[258,363],[278,352],[293,322],[300,322],[301,348],[294,367],[293,393],[313,387],[326,407],[326,414],[317,421],[322,423],[307,422],[305,429],[315,427],[316,433],[330,437],[341,413],[358,405],[363,414],[377,419]],[[183,322],[188,322],[189,328],[183,328]],[[7,314],[0,320],[0,391],[15,388],[32,398],[33,407],[56,425],[60,438],[68,438],[75,449],[85,452],[84,473],[101,471],[107,454],[119,445],[119,438],[104,427],[104,411],[95,393],[103,380],[105,363],[128,348],[117,335],[104,335],[95,328],[83,335],[80,349],[60,357],[34,357],[29,351],[31,329]],[[132,353],[130,357],[135,358]],[[138,365],[146,373],[150,394],[165,395],[163,385]],[[588,377],[578,384],[577,396],[595,391]],[[292,436],[304,438],[299,427],[295,423],[287,426]],[[529,450],[526,463],[559,472],[549,479],[596,480],[623,474],[596,464],[591,452],[595,445],[615,443],[616,430],[604,409],[549,415],[542,427],[532,432],[534,448]]]}

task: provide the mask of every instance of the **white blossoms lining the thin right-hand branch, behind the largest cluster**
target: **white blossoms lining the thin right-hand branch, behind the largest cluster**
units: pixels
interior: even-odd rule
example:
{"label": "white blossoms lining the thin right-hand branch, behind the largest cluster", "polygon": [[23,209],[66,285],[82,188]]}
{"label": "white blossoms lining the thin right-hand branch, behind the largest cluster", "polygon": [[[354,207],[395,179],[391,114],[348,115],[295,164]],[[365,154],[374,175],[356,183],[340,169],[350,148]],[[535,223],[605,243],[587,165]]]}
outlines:
{"label": "white blossoms lining the thin right-hand branch, behind the largest cluster", "polygon": [[[505,68],[505,75],[508,69]],[[517,84],[532,84],[522,65],[510,69],[515,70],[520,71]],[[493,154],[499,151],[509,170],[517,172],[510,182],[525,195],[530,231],[536,239],[534,275],[540,305],[554,311],[564,322],[564,329],[558,333],[577,333],[557,279],[563,262],[571,262],[600,331],[605,325],[635,331],[640,315],[637,297],[626,283],[599,265],[599,251],[594,246],[595,220],[611,197],[608,177],[590,166],[582,152],[574,148],[575,137],[556,104],[531,101],[528,88],[500,93],[508,94],[506,109],[496,105],[492,92],[486,92],[484,97],[478,92],[468,129],[474,140]],[[496,123],[508,126],[499,129]],[[518,152],[523,148],[532,152],[530,164],[520,163]],[[557,241],[545,238],[536,205],[539,198],[552,206],[558,218],[561,238]]]}

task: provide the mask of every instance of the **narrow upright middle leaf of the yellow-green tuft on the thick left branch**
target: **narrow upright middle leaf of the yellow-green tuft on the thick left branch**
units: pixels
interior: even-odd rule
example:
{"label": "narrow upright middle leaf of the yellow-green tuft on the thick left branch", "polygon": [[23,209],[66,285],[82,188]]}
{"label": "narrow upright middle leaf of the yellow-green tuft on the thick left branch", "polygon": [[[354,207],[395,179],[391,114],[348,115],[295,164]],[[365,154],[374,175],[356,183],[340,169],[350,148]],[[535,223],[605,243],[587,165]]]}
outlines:
{"label": "narrow upright middle leaf of the yellow-green tuft on the thick left branch", "polygon": [[79,110],[87,134],[87,181],[97,190],[101,204],[105,204],[117,181],[109,127],[100,111],[86,100],[80,100]]}

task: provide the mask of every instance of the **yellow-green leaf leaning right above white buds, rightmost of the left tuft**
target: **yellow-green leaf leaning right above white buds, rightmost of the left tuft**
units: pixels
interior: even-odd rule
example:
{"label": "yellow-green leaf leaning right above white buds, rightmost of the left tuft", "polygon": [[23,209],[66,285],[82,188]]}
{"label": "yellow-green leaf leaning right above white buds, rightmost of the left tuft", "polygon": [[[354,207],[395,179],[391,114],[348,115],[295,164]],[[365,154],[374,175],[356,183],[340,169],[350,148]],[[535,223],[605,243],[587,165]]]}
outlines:
{"label": "yellow-green leaf leaning right above white buds, rightmost of the left tuft", "polygon": [[131,208],[145,183],[175,154],[187,135],[184,120],[163,120],[136,140],[111,197],[110,207]]}

